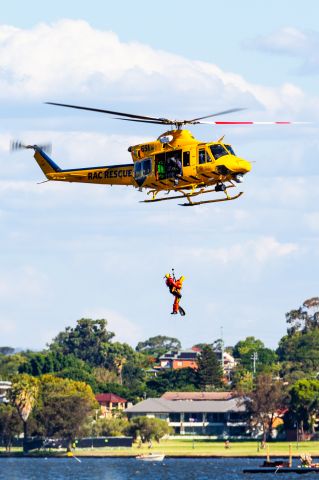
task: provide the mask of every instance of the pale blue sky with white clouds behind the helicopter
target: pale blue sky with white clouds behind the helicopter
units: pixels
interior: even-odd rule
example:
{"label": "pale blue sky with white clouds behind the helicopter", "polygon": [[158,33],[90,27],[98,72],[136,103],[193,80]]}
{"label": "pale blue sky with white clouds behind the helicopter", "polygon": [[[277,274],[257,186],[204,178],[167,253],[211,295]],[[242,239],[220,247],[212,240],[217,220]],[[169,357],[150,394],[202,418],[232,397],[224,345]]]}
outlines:
{"label": "pale blue sky with white clouds behind the helicopter", "polygon": [[[106,318],[133,347],[246,336],[276,348],[285,313],[318,296],[319,4],[315,0],[12,0],[0,14],[0,345],[43,349],[76,320]],[[154,205],[128,187],[45,178],[10,140],[52,142],[61,168],[129,163],[158,125],[45,105],[172,118],[245,108],[194,126],[252,162],[229,203]],[[186,277],[185,317],[163,276]]]}

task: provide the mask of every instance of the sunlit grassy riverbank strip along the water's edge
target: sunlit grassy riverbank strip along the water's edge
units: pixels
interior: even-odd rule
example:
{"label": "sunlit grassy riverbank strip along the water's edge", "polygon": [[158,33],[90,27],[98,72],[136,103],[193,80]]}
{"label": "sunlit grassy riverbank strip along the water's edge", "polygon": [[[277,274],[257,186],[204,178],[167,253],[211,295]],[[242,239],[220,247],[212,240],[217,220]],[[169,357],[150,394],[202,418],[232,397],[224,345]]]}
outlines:
{"label": "sunlit grassy riverbank strip along the water's edge", "polygon": [[[162,440],[160,443],[153,442],[152,447],[142,445],[140,448],[133,445],[132,448],[77,448],[74,451],[76,457],[135,457],[141,453],[163,453],[167,457],[237,457],[237,458],[260,458],[266,457],[267,453],[271,458],[288,457],[289,446],[291,446],[292,455],[299,457],[307,453],[312,457],[319,456],[319,442],[270,442],[265,448],[261,448],[260,442],[230,442],[229,448],[225,448],[224,442],[215,442],[208,440]],[[21,449],[14,449],[7,454],[4,449],[0,449],[0,458],[6,456],[23,456]],[[25,455],[24,455],[25,456]],[[28,454],[32,457],[65,457],[65,451],[32,451]]]}

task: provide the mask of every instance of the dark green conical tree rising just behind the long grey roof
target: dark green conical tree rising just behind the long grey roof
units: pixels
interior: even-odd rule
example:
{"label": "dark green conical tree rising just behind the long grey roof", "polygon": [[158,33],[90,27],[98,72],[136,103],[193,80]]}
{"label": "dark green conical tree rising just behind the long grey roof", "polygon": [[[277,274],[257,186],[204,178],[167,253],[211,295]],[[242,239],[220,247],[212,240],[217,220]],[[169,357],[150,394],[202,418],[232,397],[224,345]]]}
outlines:
{"label": "dark green conical tree rising just behind the long grey roof", "polygon": [[222,385],[223,372],[212,347],[205,345],[198,357],[198,379],[202,389],[218,388]]}

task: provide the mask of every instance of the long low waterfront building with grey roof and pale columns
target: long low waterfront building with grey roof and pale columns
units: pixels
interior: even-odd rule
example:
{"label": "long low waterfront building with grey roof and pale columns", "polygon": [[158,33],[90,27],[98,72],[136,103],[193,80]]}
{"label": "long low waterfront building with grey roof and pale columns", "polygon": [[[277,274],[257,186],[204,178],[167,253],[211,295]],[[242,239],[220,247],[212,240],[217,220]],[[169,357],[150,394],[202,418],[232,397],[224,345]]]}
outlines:
{"label": "long low waterfront building with grey roof and pale columns", "polygon": [[239,398],[226,400],[167,400],[149,398],[125,413],[129,418],[147,416],[166,420],[175,435],[213,438],[249,438],[248,414]]}

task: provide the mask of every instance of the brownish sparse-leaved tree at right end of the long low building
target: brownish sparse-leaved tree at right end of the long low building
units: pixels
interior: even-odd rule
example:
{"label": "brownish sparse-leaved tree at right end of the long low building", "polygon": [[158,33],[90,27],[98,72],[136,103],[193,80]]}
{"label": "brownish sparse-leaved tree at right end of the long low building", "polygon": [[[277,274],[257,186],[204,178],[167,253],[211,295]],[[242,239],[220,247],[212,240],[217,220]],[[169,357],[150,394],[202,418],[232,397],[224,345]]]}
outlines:
{"label": "brownish sparse-leaved tree at right end of the long low building", "polygon": [[251,426],[261,426],[263,441],[271,437],[275,414],[287,404],[287,395],[282,381],[274,380],[271,374],[259,374],[255,387],[244,399],[251,418]]}

